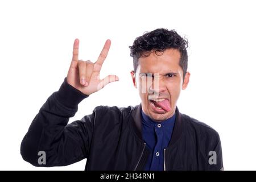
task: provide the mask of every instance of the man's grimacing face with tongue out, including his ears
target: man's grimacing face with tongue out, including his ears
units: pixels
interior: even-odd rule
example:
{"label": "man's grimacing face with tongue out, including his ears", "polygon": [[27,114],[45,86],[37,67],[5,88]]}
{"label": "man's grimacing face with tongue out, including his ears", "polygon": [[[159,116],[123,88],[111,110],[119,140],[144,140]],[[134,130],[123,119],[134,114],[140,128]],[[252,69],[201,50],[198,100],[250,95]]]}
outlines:
{"label": "man's grimacing face with tongue out, including his ears", "polygon": [[136,75],[132,71],[131,76],[139,90],[143,112],[160,122],[174,115],[180,91],[187,88],[190,73],[186,73],[183,82],[177,49],[157,54],[152,51],[149,56],[140,57]]}

